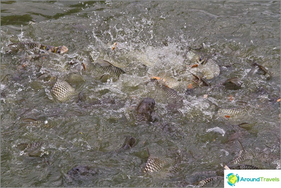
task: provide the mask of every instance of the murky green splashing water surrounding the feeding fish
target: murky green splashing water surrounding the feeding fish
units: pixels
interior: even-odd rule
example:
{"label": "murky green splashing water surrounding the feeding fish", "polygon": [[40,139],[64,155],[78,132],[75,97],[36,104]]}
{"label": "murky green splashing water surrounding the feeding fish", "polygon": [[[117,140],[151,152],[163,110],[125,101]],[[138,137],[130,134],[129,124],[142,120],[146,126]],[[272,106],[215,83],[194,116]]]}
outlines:
{"label": "murky green splashing water surrounding the feeding fish", "polygon": [[[8,44],[19,41],[66,45],[69,50],[22,68],[19,61],[25,51],[3,54]],[[235,63],[220,67],[220,75],[207,80],[209,84],[239,77],[242,89],[209,92],[209,87],[196,87],[187,92],[191,74],[179,73],[194,64],[187,58],[187,46],[202,44],[203,53],[219,65]],[[233,53],[226,53],[225,46]],[[70,73],[74,59],[85,63],[86,70]],[[108,60],[126,74],[101,82],[97,59]],[[252,60],[268,74],[247,77]],[[53,99],[47,81],[38,78],[47,71],[69,82],[77,93],[84,92],[87,100]],[[196,68],[190,71],[196,73]],[[165,78],[183,97],[183,106],[169,108],[163,90],[145,84],[152,76]],[[147,96],[156,101],[153,123],[133,115]],[[280,169],[279,98],[280,2],[1,1],[2,187],[192,186],[209,177],[205,171],[223,169],[221,165],[233,159],[235,139],[255,156],[246,164]],[[228,108],[237,101],[249,103],[245,115],[217,114],[216,105]],[[237,126],[245,122],[247,130]],[[215,127],[225,134],[207,132]],[[107,153],[120,148],[129,134],[136,138],[134,147]],[[41,157],[29,157],[16,147],[39,141],[44,142]],[[146,147],[165,161],[159,172],[142,172]],[[169,176],[179,156],[181,170]],[[83,181],[65,178],[79,165],[98,173]],[[222,187],[223,180],[207,185]]]}

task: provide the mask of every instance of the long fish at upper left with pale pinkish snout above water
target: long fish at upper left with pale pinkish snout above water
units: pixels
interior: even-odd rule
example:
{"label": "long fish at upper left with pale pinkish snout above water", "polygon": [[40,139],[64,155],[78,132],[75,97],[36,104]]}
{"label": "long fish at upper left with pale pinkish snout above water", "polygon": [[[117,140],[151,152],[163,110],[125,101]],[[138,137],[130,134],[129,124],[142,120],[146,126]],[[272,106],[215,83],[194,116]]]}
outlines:
{"label": "long fish at upper left with pale pinkish snout above water", "polygon": [[55,46],[50,46],[50,45],[41,45],[40,43],[37,42],[18,42],[14,44],[9,44],[8,49],[6,50],[6,53],[15,53],[19,49],[32,49],[34,53],[39,53],[40,50],[45,50],[49,52],[53,52],[55,54],[64,54],[67,53],[68,48],[65,45],[55,47]]}

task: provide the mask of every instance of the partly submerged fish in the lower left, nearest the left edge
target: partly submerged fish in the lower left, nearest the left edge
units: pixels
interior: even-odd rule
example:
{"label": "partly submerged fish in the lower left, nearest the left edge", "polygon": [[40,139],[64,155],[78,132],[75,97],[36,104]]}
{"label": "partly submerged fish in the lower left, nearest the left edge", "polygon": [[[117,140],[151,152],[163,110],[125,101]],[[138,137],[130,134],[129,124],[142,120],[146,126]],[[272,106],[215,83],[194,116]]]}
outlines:
{"label": "partly submerged fish in the lower left, nearest the left edge", "polygon": [[17,148],[20,150],[25,150],[28,153],[29,157],[41,157],[42,153],[43,153],[40,150],[42,144],[43,144],[43,142],[36,142],[36,143],[31,143],[31,144],[21,143],[21,144],[17,145]]}

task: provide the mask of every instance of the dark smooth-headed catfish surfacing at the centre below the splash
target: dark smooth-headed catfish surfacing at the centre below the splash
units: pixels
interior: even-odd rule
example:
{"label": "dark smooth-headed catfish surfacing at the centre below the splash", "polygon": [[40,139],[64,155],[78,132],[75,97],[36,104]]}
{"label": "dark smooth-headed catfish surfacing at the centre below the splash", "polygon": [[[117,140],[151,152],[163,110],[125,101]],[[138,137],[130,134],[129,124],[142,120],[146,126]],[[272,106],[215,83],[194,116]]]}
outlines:
{"label": "dark smooth-headed catfish surfacing at the centre below the splash", "polygon": [[150,122],[152,120],[152,113],[154,111],[155,101],[152,98],[144,98],[136,107],[136,114],[139,120]]}

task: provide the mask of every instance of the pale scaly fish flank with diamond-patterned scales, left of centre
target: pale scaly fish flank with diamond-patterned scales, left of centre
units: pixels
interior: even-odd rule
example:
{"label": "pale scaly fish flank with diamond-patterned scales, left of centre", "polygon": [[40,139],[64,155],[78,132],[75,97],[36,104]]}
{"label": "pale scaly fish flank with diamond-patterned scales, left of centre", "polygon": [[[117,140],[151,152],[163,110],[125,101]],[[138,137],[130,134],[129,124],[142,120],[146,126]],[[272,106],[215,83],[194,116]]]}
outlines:
{"label": "pale scaly fish flank with diamond-patterned scales, left of centre", "polygon": [[68,96],[71,92],[74,92],[74,88],[71,87],[68,82],[58,78],[56,78],[55,83],[51,87],[51,93],[60,101],[64,97]]}

